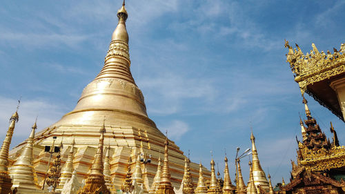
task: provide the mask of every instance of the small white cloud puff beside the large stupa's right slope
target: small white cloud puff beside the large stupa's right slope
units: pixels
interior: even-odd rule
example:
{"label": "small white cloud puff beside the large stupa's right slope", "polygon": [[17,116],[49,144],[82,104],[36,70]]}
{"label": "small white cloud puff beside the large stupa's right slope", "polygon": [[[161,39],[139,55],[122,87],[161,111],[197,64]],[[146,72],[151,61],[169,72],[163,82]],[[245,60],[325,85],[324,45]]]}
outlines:
{"label": "small white cloud puff beside the large stupa's right slope", "polygon": [[189,126],[186,122],[182,122],[180,120],[173,120],[169,124],[165,126],[159,126],[159,128],[164,132],[164,130],[168,130],[168,137],[169,139],[179,140],[182,135],[184,135],[188,130]]}

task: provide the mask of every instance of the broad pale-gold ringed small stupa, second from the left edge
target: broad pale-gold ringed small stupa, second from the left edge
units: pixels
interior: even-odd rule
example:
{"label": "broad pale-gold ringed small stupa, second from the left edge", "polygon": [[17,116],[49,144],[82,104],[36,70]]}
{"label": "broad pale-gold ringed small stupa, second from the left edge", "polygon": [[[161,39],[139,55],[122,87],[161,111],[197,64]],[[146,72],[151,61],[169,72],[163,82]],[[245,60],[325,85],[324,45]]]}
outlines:
{"label": "broad pale-gold ringed small stupa, second from the left edge", "polygon": [[39,191],[40,187],[37,184],[37,175],[33,168],[33,144],[34,144],[34,131],[37,129],[36,122],[32,126],[30,136],[26,140],[26,146],[23,148],[21,155],[17,158],[16,162],[12,165],[10,175],[12,177],[12,187],[17,187],[19,192],[34,192]]}

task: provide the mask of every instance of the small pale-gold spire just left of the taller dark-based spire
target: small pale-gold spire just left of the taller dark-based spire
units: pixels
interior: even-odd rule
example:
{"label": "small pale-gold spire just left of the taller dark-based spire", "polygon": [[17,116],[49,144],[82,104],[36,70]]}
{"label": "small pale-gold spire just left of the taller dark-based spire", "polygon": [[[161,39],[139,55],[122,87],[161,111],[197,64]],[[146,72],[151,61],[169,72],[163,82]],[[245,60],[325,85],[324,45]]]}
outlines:
{"label": "small pale-gold spire just left of the taller dark-based spire", "polygon": [[73,138],[72,144],[70,147],[70,153],[68,153],[66,164],[65,166],[63,166],[62,172],[61,172],[60,183],[59,183],[59,188],[61,189],[68,182],[68,180],[71,179],[73,175],[73,171],[75,170],[73,167],[74,151],[75,151],[75,139]]}

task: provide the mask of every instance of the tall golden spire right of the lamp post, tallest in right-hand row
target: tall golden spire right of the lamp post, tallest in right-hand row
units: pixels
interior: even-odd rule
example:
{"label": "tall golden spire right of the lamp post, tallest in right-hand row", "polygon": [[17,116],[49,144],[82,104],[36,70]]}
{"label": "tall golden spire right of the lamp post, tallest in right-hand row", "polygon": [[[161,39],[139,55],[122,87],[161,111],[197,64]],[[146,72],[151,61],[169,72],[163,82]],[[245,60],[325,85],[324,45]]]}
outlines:
{"label": "tall golden spire right of the lamp post, tallest in right-hand row", "polygon": [[[250,141],[252,142],[252,155],[253,155],[253,180],[255,186],[259,186],[264,191],[268,191],[269,184],[265,172],[260,165],[259,157],[257,156],[257,147],[255,146],[255,137],[253,131],[250,134]],[[247,191],[248,192],[248,191]]]}

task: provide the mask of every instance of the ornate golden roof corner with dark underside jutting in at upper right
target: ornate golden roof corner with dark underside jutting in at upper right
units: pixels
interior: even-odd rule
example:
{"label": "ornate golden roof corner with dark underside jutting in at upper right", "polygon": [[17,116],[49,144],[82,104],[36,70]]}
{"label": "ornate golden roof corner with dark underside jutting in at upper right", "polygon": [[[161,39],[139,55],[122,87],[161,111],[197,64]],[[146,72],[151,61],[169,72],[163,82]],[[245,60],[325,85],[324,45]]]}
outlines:
{"label": "ornate golden roof corner with dark underside jutting in at upper right", "polygon": [[286,60],[301,89],[302,95],[308,93],[322,106],[332,111],[344,121],[345,118],[345,43],[333,53],[317,49],[312,43],[310,53],[304,54],[296,43],[296,48],[285,41],[288,48]]}

